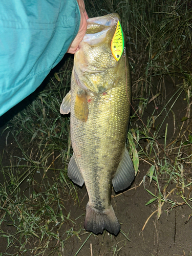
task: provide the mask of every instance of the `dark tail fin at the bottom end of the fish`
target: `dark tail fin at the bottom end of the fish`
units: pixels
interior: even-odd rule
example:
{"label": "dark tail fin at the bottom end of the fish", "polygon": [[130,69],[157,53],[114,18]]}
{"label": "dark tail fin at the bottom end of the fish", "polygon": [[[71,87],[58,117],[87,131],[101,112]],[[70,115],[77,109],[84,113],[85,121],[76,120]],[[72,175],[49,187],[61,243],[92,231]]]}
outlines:
{"label": "dark tail fin at the bottom end of the fish", "polygon": [[118,234],[120,230],[120,224],[112,206],[110,206],[109,209],[99,211],[92,208],[89,205],[89,202],[86,208],[84,227],[86,230],[92,231],[95,234],[102,233],[103,229],[106,229],[113,234]]}

